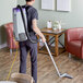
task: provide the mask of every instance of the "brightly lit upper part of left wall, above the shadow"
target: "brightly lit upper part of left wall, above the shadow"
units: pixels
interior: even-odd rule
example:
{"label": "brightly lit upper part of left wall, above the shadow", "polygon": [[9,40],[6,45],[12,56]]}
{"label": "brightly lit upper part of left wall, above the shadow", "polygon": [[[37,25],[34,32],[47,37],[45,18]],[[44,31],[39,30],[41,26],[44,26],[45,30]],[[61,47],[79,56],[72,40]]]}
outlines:
{"label": "brightly lit upper part of left wall, above the shadow", "polygon": [[16,0],[0,0],[0,25],[12,21],[12,8]]}

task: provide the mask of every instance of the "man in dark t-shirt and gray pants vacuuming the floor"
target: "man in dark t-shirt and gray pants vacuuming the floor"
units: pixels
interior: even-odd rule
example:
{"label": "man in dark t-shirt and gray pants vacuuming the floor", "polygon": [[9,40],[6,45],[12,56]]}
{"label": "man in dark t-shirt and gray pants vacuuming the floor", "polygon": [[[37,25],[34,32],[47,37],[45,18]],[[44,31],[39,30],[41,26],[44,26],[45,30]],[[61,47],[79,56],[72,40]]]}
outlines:
{"label": "man in dark t-shirt and gray pants vacuuming the floor", "polygon": [[[33,3],[35,0],[26,0],[25,7],[31,7],[28,11],[28,22],[29,22],[29,27],[28,32],[31,35],[32,39],[36,39],[36,35],[39,35],[43,43],[46,42],[44,35],[37,27],[37,20],[38,20],[38,13],[35,8],[33,8]],[[32,33],[32,34],[31,34]],[[26,73],[26,57],[27,57],[27,51],[29,50],[31,55],[31,64],[32,64],[32,76],[35,80],[35,83],[37,83],[37,43],[33,44],[29,42],[29,39],[25,42],[20,42],[20,73]]]}

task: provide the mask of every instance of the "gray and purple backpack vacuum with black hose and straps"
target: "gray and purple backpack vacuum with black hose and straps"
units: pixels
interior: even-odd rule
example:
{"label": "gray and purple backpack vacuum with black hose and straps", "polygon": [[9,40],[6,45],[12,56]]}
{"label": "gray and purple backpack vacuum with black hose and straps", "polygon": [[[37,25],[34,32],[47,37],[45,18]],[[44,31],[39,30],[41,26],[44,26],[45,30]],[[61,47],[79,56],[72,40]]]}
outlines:
{"label": "gray and purple backpack vacuum with black hose and straps", "polygon": [[28,9],[31,7],[22,8],[21,5],[13,9],[13,34],[17,42],[29,39],[32,43],[37,43],[32,40],[28,33]]}

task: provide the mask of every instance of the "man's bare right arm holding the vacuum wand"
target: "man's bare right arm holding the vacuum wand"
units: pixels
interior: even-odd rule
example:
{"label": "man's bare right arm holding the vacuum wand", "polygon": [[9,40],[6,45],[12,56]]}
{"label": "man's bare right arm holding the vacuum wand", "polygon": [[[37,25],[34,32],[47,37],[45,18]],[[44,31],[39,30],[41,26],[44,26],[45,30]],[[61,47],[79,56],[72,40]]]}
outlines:
{"label": "man's bare right arm holding the vacuum wand", "polygon": [[45,36],[43,35],[43,33],[40,32],[40,29],[37,27],[37,21],[36,21],[36,19],[33,20],[33,31],[42,37],[43,43],[46,42]]}

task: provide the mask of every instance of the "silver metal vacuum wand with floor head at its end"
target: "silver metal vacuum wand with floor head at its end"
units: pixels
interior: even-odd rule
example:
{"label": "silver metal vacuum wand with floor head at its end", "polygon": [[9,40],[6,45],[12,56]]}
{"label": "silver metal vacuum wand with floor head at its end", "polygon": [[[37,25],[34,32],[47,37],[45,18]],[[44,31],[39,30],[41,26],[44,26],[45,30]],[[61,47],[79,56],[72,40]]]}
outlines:
{"label": "silver metal vacuum wand with floor head at its end", "polygon": [[[40,42],[42,42],[42,40],[40,40]],[[51,56],[51,52],[50,52],[50,50],[49,50],[49,47],[48,47],[47,43],[45,42],[44,44],[45,44],[45,46],[46,46],[46,48],[47,48],[47,50],[48,50],[48,54],[49,54],[49,56],[50,56],[50,58],[51,58],[51,61],[52,61],[52,63],[54,63],[54,66],[55,66],[55,68],[56,68],[56,70],[57,70],[57,73],[58,73],[59,78],[73,79],[73,76],[69,75],[68,73],[61,74],[61,73],[59,72],[59,69],[58,69],[58,67],[57,67],[57,64],[56,64],[56,62],[55,62],[55,60],[54,60],[54,57]]]}

